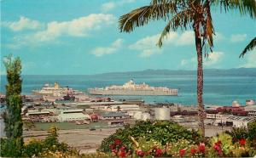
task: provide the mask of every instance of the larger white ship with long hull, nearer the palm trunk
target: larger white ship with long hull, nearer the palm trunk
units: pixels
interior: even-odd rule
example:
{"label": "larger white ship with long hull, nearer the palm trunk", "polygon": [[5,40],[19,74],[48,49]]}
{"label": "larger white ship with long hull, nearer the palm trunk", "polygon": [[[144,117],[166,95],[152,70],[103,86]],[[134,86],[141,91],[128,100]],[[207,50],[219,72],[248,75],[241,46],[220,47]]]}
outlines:
{"label": "larger white ship with long hull, nearer the palm trunk", "polygon": [[177,95],[177,89],[168,87],[150,87],[148,84],[135,84],[132,80],[123,86],[113,85],[102,88],[89,88],[93,95]]}

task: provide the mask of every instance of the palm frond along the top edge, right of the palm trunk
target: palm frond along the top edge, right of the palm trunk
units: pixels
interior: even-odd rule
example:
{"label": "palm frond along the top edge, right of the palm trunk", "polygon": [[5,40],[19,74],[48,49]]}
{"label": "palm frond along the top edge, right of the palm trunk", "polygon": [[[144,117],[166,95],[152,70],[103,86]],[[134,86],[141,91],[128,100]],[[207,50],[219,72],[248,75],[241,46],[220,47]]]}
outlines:
{"label": "palm frond along the top edge, right of the palm trunk", "polygon": [[219,5],[225,12],[230,9],[239,9],[240,14],[248,14],[251,18],[256,18],[255,0],[211,0],[211,4]]}

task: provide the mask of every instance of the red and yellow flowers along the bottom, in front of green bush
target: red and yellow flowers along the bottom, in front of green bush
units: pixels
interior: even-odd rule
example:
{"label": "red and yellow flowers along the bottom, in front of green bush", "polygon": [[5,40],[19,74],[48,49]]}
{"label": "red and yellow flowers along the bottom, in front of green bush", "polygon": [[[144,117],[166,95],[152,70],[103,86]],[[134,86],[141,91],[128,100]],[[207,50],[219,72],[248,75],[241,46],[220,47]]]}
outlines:
{"label": "red and yellow flowers along the bottom, in front of green bush", "polygon": [[154,139],[145,137],[130,137],[132,147],[128,150],[122,140],[115,139],[109,145],[112,155],[117,157],[253,157],[255,147],[250,146],[249,140],[239,139],[232,142],[232,137],[221,133],[209,140],[209,144],[196,143],[181,138],[177,142],[161,144]]}

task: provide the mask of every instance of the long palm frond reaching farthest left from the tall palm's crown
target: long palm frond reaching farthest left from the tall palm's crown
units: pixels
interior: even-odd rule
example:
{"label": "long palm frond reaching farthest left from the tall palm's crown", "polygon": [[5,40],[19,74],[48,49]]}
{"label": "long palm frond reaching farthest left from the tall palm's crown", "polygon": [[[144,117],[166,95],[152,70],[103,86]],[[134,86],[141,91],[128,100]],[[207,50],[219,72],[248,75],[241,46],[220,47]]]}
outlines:
{"label": "long palm frond reaching farthest left from the tall palm's crown", "polygon": [[[181,0],[176,0],[181,1]],[[176,1],[152,0],[151,4],[132,10],[119,18],[119,30],[131,32],[135,27],[148,24],[149,20],[167,20],[172,14],[176,14],[178,5]]]}

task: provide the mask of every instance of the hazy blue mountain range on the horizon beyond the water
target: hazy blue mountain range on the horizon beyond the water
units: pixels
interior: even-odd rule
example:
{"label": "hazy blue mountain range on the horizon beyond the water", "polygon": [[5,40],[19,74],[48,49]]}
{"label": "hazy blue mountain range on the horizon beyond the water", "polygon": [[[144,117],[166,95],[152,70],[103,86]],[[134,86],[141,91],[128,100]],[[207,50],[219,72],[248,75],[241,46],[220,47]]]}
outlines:
{"label": "hazy blue mountain range on the horizon beyond the water", "polygon": [[[145,71],[127,71],[127,72],[110,72],[97,74],[92,76],[108,77],[108,76],[183,76],[190,75],[195,76],[196,71],[185,70],[152,70]],[[256,76],[256,68],[237,68],[237,69],[206,69],[204,70],[204,76]]]}

